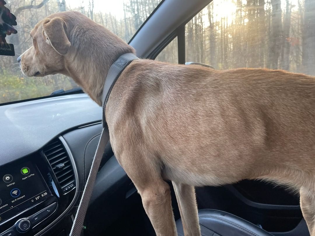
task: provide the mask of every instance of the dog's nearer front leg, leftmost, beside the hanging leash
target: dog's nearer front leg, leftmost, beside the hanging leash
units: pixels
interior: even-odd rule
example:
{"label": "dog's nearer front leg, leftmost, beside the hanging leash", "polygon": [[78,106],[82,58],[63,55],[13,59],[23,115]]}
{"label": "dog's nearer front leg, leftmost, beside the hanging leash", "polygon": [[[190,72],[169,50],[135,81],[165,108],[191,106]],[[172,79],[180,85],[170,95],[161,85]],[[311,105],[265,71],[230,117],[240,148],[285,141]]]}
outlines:
{"label": "dog's nearer front leg, leftmost, beside the hanging leash", "polygon": [[[143,207],[157,236],[177,236],[169,184],[161,176],[154,156],[141,155],[140,151],[118,155],[117,160],[135,184]],[[145,152],[142,150],[142,152]],[[127,152],[126,152],[127,153]]]}

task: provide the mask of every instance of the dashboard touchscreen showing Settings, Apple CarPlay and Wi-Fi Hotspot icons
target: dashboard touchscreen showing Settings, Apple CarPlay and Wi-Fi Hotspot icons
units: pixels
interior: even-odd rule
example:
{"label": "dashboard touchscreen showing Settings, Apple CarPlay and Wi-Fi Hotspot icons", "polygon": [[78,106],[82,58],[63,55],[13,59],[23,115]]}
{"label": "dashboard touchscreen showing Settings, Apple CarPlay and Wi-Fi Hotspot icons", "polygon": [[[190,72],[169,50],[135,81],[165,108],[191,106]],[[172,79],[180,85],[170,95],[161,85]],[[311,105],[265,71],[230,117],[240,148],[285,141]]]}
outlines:
{"label": "dashboard touchscreen showing Settings, Apple CarPlay and Wi-Fi Hotspot icons", "polygon": [[0,169],[0,224],[51,196],[37,166],[30,161]]}

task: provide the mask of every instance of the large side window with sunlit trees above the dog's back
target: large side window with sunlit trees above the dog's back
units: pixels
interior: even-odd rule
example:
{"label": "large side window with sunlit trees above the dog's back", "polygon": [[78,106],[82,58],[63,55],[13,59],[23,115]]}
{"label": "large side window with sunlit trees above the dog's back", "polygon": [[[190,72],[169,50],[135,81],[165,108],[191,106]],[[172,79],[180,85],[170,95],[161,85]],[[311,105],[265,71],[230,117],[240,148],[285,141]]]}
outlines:
{"label": "large side window with sunlit trees above the dog's back", "polygon": [[186,62],[315,75],[315,2],[214,0],[185,26]]}

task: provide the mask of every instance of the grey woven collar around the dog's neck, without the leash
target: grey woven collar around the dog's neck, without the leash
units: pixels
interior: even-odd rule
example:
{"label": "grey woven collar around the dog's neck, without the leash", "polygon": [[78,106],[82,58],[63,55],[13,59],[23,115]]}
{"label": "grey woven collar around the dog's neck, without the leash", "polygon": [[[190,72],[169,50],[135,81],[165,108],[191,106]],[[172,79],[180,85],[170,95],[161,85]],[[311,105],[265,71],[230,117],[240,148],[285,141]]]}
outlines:
{"label": "grey woven collar around the dog's neck, without the leash", "polygon": [[123,70],[132,62],[133,60],[139,59],[134,53],[125,53],[121,55],[108,70],[107,76],[105,78],[105,83],[103,87],[102,95],[102,107],[103,107],[103,126],[105,123],[105,107],[112,91],[112,88],[117,81]]}

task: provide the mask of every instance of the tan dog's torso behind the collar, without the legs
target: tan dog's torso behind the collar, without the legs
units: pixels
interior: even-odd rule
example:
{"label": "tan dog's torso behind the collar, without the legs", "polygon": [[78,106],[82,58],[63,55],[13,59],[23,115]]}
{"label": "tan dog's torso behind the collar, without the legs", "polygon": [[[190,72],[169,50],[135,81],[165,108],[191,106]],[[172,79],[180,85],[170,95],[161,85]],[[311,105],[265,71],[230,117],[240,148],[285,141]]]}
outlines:
{"label": "tan dog's torso behind the collar, without the legs", "polygon": [[301,187],[315,174],[313,77],[151,60],[120,77],[106,112],[118,156],[127,137],[144,143],[164,178],[194,186],[267,178]]}

